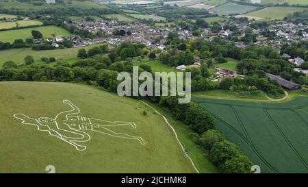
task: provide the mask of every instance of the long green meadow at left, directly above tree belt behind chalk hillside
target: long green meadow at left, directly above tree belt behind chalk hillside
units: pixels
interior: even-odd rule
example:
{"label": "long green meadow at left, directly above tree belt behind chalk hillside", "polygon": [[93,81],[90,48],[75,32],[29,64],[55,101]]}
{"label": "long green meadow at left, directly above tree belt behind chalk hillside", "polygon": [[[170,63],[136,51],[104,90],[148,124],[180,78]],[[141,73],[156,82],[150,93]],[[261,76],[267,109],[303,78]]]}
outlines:
{"label": "long green meadow at left, directly above tree belt behind chalk hillside", "polygon": [[[68,62],[73,63],[77,60],[77,53],[79,49],[90,49],[92,47],[99,46],[101,44],[97,45],[89,45],[87,47],[73,47],[73,48],[67,48],[67,49],[55,49],[55,50],[40,50],[40,51],[34,51],[31,50],[31,48],[21,48],[21,49],[8,49],[8,50],[1,50],[0,51],[0,68],[2,68],[2,64],[8,60],[12,60],[13,62],[16,62],[16,64],[23,63],[23,59],[26,55],[32,55],[34,58],[35,64],[46,64],[46,62],[42,62],[40,60],[41,57],[54,57],[56,59],[56,62]],[[54,63],[51,63],[52,65]]]}

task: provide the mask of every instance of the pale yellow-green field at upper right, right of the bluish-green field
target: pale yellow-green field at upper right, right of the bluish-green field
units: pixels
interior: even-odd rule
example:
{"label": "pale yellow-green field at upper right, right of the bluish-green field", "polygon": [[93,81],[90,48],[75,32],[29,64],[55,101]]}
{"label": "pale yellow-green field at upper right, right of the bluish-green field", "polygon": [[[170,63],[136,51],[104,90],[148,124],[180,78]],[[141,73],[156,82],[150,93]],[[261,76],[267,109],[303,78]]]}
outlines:
{"label": "pale yellow-green field at upper right, right of the bluish-green field", "polygon": [[300,12],[305,10],[305,8],[296,8],[296,7],[268,7],[254,12],[249,12],[244,14],[246,16],[253,16],[258,18],[263,18],[264,20],[273,20],[273,19],[283,19],[288,14],[294,12]]}

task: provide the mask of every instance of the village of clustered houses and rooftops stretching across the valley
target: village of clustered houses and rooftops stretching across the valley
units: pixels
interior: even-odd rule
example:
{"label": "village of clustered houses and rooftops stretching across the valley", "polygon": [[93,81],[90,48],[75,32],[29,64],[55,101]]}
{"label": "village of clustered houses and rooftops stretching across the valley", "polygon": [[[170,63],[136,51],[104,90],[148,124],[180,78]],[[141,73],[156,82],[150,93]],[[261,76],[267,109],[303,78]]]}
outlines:
{"label": "village of clustered houses and rooftops stretching across the valley", "polygon": [[[19,18],[23,20],[29,20],[29,18]],[[16,18],[5,18],[6,22],[16,21]],[[84,31],[86,30],[90,34],[93,34],[94,38],[81,37],[78,34],[72,34],[70,36],[54,36],[53,38],[38,39],[34,40],[36,45],[51,45],[51,49],[63,49],[65,47],[84,47],[99,43],[108,43],[110,45],[120,45],[123,41],[129,42],[140,42],[149,49],[159,49],[164,53],[166,46],[164,43],[168,37],[168,33],[175,32],[179,38],[196,40],[198,38],[206,38],[211,41],[215,37],[222,38],[227,42],[233,42],[230,40],[230,36],[236,36],[238,38],[245,37],[247,28],[250,28],[253,21],[248,21],[248,23],[238,23],[237,21],[219,21],[220,25],[219,32],[214,32],[211,27],[206,27],[201,29],[201,34],[195,36],[190,29],[182,29],[179,26],[174,27],[155,27],[146,25],[145,23],[136,21],[132,24],[127,24],[125,22],[116,21],[112,19],[100,20],[100,21],[71,21],[64,23],[68,25],[74,25],[77,29]],[[234,25],[237,29],[237,34],[234,34],[231,29],[224,29],[227,25]],[[308,40],[307,31],[308,26],[302,23],[272,23],[268,27],[263,28],[253,28],[252,34],[257,38],[257,41],[253,42],[257,46],[270,46],[277,51],[281,51],[281,46],[284,44],[290,44],[298,40]],[[264,31],[275,33],[274,38],[267,39],[266,36],[262,34]],[[103,33],[103,36],[97,36],[97,33]],[[158,40],[157,40],[158,38]],[[155,41],[155,42],[154,42]],[[64,45],[64,42],[70,43],[70,45]],[[244,41],[235,41],[235,46],[245,49],[248,44]],[[305,62],[302,58],[296,57],[292,58],[291,55],[283,53],[282,58],[285,58],[290,63],[296,66],[295,71],[308,73],[308,71],[302,70],[301,64]],[[200,60],[196,59],[196,62],[192,66],[200,66]],[[185,65],[180,65],[175,67],[179,70],[185,70],[187,68]],[[220,82],[224,77],[236,77],[235,71],[231,71],[224,68],[216,69],[214,81]]]}

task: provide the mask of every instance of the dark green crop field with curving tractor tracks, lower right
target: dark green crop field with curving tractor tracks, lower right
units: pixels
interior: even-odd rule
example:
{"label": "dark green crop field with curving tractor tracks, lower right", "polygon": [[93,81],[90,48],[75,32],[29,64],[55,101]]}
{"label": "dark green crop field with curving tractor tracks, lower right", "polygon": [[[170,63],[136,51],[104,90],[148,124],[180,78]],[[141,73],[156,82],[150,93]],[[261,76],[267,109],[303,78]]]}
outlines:
{"label": "dark green crop field with curving tractor tracks, lower right", "polygon": [[308,97],[260,103],[193,98],[218,129],[240,146],[261,173],[308,172]]}

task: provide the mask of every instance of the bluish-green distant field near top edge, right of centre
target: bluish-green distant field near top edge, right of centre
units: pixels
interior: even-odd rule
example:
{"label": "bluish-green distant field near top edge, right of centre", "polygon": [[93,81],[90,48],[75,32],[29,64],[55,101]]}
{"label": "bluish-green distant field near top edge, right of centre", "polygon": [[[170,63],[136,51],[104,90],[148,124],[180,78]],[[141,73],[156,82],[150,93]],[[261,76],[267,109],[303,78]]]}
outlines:
{"label": "bluish-green distant field near top edge, right of centre", "polygon": [[225,3],[216,8],[211,8],[209,12],[218,14],[219,16],[227,16],[229,14],[243,14],[251,10],[256,10],[256,6],[240,5],[237,3]]}

